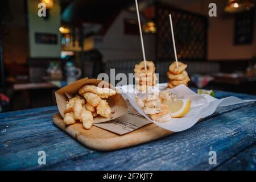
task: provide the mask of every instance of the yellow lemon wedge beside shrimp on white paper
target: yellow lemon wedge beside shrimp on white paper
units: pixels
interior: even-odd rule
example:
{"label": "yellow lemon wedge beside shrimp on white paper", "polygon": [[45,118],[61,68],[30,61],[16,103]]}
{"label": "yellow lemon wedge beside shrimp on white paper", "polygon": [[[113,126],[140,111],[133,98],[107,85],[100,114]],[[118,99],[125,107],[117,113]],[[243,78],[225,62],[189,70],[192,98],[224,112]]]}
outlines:
{"label": "yellow lemon wedge beside shrimp on white paper", "polygon": [[188,114],[190,111],[191,99],[167,100],[164,104],[168,106],[173,118],[180,118]]}

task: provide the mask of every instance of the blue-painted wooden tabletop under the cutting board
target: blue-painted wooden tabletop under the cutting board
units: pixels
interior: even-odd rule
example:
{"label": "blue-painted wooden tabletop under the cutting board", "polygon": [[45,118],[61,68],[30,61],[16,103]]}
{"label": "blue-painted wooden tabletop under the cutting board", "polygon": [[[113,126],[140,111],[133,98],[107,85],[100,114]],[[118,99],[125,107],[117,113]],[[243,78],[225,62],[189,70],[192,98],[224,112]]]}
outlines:
{"label": "blue-painted wooden tabletop under the cutting board", "polygon": [[[216,91],[217,98],[256,96]],[[57,107],[0,114],[0,169],[222,170],[256,169],[256,103],[220,107],[191,129],[139,146],[100,152],[82,146],[52,123]],[[46,152],[46,165],[38,152]],[[215,151],[217,164],[209,164]]]}

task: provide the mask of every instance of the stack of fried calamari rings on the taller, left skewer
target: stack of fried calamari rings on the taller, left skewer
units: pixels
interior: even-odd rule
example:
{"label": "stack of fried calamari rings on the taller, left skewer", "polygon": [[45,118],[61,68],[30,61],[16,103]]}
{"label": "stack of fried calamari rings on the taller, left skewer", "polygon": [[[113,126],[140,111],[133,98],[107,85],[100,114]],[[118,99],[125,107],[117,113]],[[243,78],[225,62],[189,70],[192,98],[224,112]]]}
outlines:
{"label": "stack of fried calamari rings on the taller, left skewer", "polygon": [[146,91],[150,86],[156,85],[158,78],[155,75],[155,64],[153,61],[146,61],[146,67],[144,61],[139,64],[135,64],[135,80],[137,81],[137,89],[141,92]]}

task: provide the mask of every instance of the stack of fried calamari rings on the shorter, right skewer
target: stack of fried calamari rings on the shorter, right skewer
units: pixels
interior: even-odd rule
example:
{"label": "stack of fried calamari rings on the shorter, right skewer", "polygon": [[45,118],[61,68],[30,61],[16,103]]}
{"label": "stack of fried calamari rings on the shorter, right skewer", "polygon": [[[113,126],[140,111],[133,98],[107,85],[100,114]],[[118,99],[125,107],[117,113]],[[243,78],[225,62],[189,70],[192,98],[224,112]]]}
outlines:
{"label": "stack of fried calamari rings on the shorter, right skewer", "polygon": [[167,72],[167,76],[169,78],[167,88],[174,88],[181,84],[188,86],[190,78],[188,77],[188,73],[185,71],[188,65],[181,62],[178,62],[178,65],[179,68],[177,68],[176,62],[174,62],[169,67],[169,71]]}

